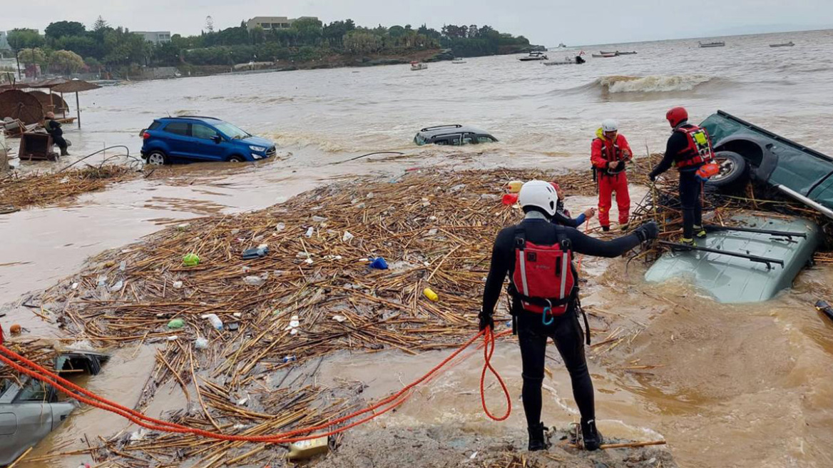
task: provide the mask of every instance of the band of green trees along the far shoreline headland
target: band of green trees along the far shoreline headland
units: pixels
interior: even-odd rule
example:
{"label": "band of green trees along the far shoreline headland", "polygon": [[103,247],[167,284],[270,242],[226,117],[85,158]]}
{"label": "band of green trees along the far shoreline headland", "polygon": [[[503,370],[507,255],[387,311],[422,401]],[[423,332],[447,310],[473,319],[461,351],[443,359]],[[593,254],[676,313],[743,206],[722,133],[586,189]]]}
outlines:
{"label": "band of green trees along the far shoreline headland", "polygon": [[[177,67],[182,74],[204,75],[256,69],[295,70],[436,62],[540,50],[523,36],[490,26],[394,25],[361,27],[351,19],[327,24],[302,17],[291,27],[264,30],[240,26],[206,30],[195,36],[172,34],[154,44],[125,27],[98,17],[91,29],[81,22],[52,22],[41,35],[32,29],[8,33],[12,58],[27,76],[97,74],[136,79],[152,67]],[[11,70],[8,70],[11,71]],[[6,75],[3,73],[3,75]],[[8,79],[3,76],[0,80]]]}

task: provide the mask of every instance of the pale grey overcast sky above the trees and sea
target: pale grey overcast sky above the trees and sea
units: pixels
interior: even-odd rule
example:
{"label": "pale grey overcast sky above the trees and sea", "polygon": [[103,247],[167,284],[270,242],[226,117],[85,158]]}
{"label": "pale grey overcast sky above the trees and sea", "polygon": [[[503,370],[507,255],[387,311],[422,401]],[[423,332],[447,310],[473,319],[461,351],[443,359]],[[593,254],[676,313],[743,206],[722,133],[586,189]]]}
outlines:
{"label": "pale grey overcast sky above the trees and sea", "polygon": [[352,18],[362,26],[488,24],[556,46],[833,27],[833,0],[6,0],[0,31],[102,15],[134,31],[197,34],[255,16]]}

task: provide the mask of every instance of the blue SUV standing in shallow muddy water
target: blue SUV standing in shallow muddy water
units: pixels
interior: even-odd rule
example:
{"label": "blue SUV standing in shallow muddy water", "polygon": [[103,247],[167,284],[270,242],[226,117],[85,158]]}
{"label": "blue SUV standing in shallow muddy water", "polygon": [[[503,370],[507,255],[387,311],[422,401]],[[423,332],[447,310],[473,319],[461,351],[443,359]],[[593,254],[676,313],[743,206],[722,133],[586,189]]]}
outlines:
{"label": "blue SUV standing in shallow muddy water", "polygon": [[142,130],[142,158],[157,166],[173,162],[257,161],[272,157],[275,143],[214,117],[163,117]]}

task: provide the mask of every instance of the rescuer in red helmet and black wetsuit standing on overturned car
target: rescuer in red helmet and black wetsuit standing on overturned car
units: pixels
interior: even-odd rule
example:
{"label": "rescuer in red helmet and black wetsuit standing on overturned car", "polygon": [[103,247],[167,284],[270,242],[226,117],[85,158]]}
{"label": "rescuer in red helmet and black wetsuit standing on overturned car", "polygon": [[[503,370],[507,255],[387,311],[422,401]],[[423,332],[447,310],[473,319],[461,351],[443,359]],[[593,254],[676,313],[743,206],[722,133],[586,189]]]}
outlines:
{"label": "rescuer in red helmet and black wetsuit standing on overturned car", "polygon": [[711,138],[705,128],[688,122],[688,112],[684,107],[674,107],[666,113],[671,124],[672,133],[666,145],[666,154],[654,167],[651,182],[676,166],[680,172],[680,204],[682,206],[681,244],[694,245],[695,237],[706,238],[703,229],[703,202],[701,200],[703,181],[708,178],[704,167],[710,166],[714,158],[711,150]]}

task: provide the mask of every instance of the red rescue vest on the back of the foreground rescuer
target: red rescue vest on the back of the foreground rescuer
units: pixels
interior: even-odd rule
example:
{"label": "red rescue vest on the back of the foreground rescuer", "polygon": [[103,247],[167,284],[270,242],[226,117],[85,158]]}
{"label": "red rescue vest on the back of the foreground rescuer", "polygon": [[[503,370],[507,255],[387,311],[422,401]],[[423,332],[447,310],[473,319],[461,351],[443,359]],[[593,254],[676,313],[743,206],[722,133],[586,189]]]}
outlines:
{"label": "red rescue vest on the back of the foreground rescuer", "polygon": [[516,299],[525,311],[547,316],[561,316],[576,296],[576,276],[572,268],[570,241],[560,239],[555,245],[539,246],[526,241],[524,232],[515,237],[515,271],[512,286]]}

